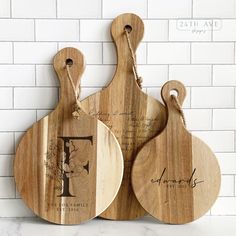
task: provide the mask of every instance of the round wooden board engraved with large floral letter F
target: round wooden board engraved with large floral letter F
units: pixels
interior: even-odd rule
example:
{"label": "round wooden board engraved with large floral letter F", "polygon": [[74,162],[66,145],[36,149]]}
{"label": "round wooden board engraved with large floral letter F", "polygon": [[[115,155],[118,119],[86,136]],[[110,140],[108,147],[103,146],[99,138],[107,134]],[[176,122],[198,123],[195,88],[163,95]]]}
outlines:
{"label": "round wooden board engraved with large floral letter F", "polygon": [[84,57],[74,48],[54,58],[61,84],[56,109],[35,123],[16,152],[14,174],[26,205],[41,218],[57,224],[79,224],[103,212],[121,184],[123,157],[113,133],[99,120],[79,110],[75,89],[84,71]]}

